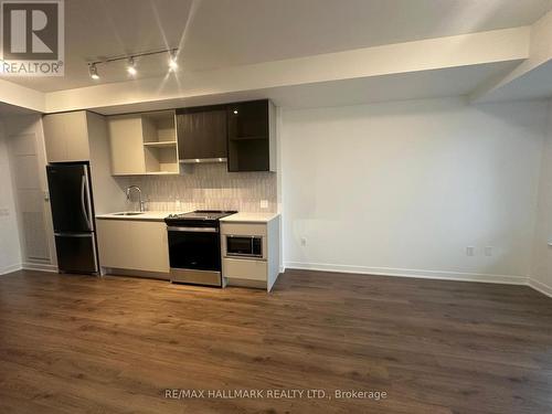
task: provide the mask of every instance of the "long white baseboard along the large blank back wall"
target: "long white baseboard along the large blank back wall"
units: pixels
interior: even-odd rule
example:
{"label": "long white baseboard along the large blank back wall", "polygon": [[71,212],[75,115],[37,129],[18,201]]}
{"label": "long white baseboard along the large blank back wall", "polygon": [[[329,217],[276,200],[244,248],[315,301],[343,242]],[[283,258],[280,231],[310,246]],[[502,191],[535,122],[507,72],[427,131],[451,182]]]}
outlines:
{"label": "long white baseboard along the large blank back wall", "polygon": [[405,269],[405,268],[392,268],[392,267],[364,267],[364,266],[335,265],[327,263],[301,263],[301,262],[286,262],[285,267],[306,269],[306,270],[357,273],[362,275],[374,275],[374,276],[418,277],[425,279],[482,282],[482,283],[506,284],[506,285],[528,284],[527,276],[512,276],[512,275],[421,270],[421,269]]}

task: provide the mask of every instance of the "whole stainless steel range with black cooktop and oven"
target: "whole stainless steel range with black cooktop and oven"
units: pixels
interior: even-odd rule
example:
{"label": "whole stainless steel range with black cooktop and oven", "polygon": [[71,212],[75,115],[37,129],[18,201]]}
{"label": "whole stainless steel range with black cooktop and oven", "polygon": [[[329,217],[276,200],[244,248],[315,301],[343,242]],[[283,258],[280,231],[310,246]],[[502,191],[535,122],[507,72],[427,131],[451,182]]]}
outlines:
{"label": "whole stainless steel range with black cooktop and oven", "polygon": [[173,283],[222,287],[219,220],[236,211],[197,210],[164,219]]}

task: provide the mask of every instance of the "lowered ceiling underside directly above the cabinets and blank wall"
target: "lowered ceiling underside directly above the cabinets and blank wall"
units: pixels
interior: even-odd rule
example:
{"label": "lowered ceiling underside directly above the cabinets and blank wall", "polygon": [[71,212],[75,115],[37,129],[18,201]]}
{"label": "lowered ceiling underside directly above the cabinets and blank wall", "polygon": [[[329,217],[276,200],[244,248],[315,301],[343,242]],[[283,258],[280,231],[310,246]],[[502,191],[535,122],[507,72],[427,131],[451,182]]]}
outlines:
{"label": "lowered ceiling underside directly above the cabinets and blank wall", "polygon": [[436,98],[468,95],[477,85],[511,71],[519,62],[408,72],[294,86],[250,89],[190,98],[140,102],[130,105],[95,107],[103,115],[201,106],[250,99],[272,99],[276,106],[312,108],[372,104],[389,100]]}

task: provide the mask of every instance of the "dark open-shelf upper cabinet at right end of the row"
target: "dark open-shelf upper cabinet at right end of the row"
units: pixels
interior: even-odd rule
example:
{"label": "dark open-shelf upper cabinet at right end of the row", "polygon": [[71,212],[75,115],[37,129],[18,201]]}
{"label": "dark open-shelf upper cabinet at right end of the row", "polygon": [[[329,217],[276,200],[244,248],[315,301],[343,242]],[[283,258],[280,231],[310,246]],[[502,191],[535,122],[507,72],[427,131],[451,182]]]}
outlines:
{"label": "dark open-shelf upper cabinet at right end of the row", "polygon": [[275,171],[275,108],[270,100],[227,105],[229,171]]}

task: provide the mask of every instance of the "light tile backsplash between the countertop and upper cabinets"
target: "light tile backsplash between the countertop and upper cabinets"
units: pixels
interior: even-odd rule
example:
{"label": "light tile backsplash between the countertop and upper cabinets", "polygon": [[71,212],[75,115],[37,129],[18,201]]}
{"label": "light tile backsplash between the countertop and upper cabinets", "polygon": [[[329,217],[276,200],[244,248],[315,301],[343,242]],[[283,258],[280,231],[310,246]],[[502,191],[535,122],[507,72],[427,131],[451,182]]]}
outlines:
{"label": "light tile backsplash between the countertop and upper cabinets", "polygon": [[[138,185],[146,208],[151,211],[276,212],[278,209],[274,172],[227,172],[225,163],[182,167],[184,172],[180,176],[119,177],[117,181],[121,188]],[[262,200],[268,202],[268,208],[261,208]],[[129,204],[129,209],[136,208],[137,203]]]}

